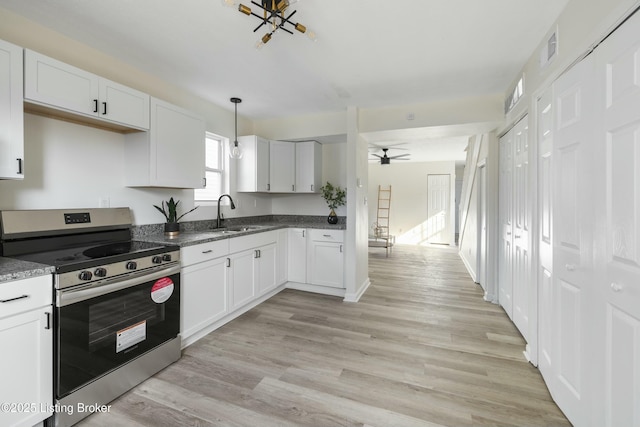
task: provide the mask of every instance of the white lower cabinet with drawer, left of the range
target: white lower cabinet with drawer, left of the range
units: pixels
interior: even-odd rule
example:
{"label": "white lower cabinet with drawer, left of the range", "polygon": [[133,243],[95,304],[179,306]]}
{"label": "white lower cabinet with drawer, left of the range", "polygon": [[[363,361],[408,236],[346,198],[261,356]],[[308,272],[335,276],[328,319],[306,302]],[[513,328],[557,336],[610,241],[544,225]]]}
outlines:
{"label": "white lower cabinet with drawer, left of the range", "polygon": [[52,415],[51,276],[0,286],[0,425],[32,426]]}

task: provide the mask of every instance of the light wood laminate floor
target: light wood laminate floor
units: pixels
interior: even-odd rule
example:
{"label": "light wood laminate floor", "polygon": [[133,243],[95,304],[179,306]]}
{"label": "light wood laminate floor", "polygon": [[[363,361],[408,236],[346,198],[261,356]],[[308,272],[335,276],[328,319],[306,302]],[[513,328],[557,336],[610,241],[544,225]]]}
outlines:
{"label": "light wood laminate floor", "polygon": [[455,249],[369,254],[359,303],[282,291],[80,425],[570,425]]}

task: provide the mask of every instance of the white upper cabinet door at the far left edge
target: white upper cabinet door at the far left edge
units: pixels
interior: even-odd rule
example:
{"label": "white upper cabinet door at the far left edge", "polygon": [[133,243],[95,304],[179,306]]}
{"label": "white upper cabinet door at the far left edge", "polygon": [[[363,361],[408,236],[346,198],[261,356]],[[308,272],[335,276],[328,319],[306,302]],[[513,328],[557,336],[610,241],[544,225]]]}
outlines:
{"label": "white upper cabinet door at the far left edge", "polygon": [[22,48],[0,40],[0,179],[24,178]]}

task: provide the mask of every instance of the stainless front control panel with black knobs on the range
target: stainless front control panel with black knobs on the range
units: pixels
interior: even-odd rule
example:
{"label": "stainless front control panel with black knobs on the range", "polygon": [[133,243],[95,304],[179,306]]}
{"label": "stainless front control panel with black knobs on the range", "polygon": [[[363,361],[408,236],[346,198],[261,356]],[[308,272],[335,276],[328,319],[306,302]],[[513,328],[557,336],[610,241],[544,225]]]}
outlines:
{"label": "stainless front control panel with black knobs on the range", "polygon": [[103,264],[97,267],[83,270],[60,273],[54,276],[56,289],[64,289],[71,286],[88,284],[101,281],[109,281],[116,277],[142,272],[148,269],[169,267],[180,262],[180,250],[163,254],[143,256],[126,261]]}

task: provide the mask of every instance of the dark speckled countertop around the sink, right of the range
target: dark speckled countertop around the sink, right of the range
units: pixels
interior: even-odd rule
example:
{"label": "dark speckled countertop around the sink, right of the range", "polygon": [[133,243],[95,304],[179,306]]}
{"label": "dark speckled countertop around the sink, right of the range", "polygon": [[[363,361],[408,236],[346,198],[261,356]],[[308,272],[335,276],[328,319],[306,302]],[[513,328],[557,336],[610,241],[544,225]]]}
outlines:
{"label": "dark speckled countertop around the sink, right of the range", "polygon": [[[247,224],[249,225],[249,224]],[[193,246],[201,243],[214,242],[216,240],[231,239],[234,237],[248,236],[251,234],[264,233],[267,231],[280,230],[283,228],[315,228],[320,230],[346,230],[345,224],[319,224],[313,223],[294,223],[294,224],[282,224],[282,223],[256,223],[261,228],[256,230],[247,230],[229,235],[220,235],[215,233],[215,229],[210,230],[196,230],[196,231],[181,231],[176,237],[165,236],[164,233],[156,233],[146,236],[138,236],[136,240],[141,240],[149,243],[158,243],[163,245],[175,245],[179,247]]]}

